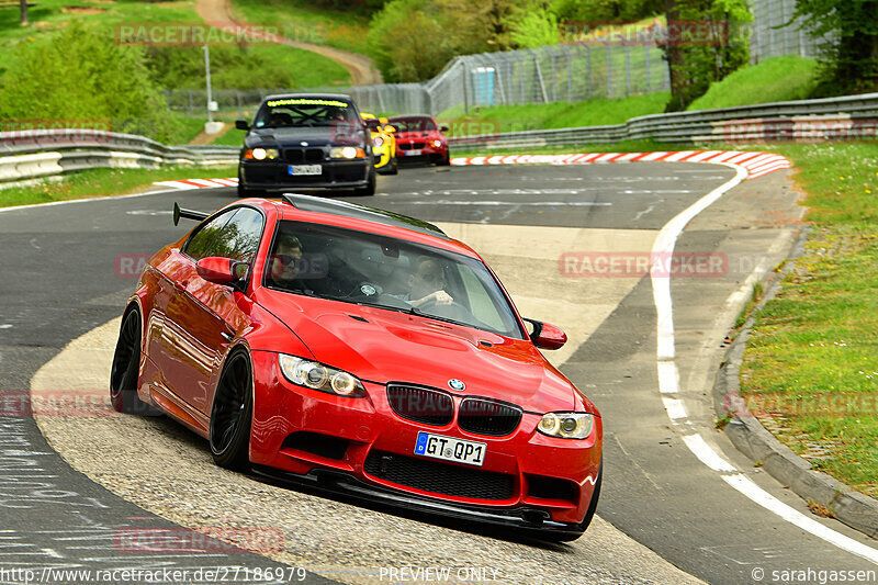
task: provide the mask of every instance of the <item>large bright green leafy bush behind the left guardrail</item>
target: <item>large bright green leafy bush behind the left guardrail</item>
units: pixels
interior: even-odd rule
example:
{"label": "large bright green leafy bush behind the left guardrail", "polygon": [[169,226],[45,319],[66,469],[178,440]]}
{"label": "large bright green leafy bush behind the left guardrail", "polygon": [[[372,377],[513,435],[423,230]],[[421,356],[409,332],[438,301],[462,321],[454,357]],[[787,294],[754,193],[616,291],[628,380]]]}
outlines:
{"label": "large bright green leafy bush behind the left guardrail", "polygon": [[164,140],[172,122],[143,54],[117,45],[110,31],[80,21],[50,37],[24,42],[0,87],[0,117],[75,127],[109,121],[115,132]]}

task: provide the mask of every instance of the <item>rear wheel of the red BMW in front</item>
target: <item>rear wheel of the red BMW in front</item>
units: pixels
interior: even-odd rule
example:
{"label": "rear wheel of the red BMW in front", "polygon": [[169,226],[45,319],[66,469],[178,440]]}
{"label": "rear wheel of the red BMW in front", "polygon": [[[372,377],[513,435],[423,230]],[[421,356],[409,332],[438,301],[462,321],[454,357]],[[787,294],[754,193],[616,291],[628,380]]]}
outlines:
{"label": "rear wheel of the red BMW in front", "polygon": [[140,378],[140,313],[130,308],[122,317],[119,340],[110,370],[110,403],[117,413],[160,416],[161,413],[137,396]]}

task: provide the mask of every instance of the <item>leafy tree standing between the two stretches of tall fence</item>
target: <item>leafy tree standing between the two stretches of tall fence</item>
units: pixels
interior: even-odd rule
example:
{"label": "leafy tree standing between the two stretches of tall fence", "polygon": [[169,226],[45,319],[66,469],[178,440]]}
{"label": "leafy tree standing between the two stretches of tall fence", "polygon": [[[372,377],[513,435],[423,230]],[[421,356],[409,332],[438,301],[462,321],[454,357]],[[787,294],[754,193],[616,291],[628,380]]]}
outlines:
{"label": "leafy tree standing between the two stretches of tall fence", "polygon": [[666,111],[685,110],[719,81],[750,61],[753,20],[745,0],[665,0],[667,29],[660,46],[671,74]]}

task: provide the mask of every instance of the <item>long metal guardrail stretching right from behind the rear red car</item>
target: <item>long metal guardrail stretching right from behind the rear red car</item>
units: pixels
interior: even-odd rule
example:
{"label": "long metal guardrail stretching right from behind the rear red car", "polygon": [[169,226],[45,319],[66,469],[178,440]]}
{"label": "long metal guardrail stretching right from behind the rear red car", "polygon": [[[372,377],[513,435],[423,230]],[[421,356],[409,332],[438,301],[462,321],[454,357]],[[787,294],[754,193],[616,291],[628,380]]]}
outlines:
{"label": "long metal guardrail stretching right from behind the rear red car", "polygon": [[878,93],[742,105],[632,117],[624,124],[481,134],[449,139],[453,148],[515,148],[653,139],[660,143],[753,143],[878,137]]}

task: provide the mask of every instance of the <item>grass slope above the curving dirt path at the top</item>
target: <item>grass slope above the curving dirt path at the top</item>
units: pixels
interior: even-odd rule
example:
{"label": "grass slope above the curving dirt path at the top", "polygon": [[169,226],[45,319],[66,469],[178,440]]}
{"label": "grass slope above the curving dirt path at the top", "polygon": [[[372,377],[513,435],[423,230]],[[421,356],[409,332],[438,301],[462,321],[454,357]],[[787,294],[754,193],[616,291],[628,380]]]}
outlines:
{"label": "grass slope above the curving dirt path at the top", "polygon": [[307,0],[233,0],[232,4],[247,22],[281,26],[289,38],[368,53],[369,16],[356,11],[315,8]]}

